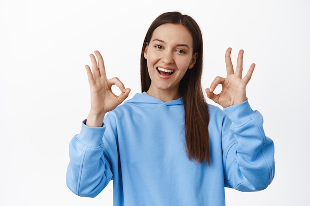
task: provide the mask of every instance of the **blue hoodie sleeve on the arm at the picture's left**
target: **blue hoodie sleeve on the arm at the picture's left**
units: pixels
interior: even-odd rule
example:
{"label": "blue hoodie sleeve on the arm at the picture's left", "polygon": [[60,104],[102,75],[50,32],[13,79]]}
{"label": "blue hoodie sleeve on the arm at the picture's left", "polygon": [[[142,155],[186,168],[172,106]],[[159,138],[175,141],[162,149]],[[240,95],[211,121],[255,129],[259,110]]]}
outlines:
{"label": "blue hoodie sleeve on the arm at the picture's left", "polygon": [[80,134],[69,144],[70,163],[67,186],[79,196],[95,197],[112,179],[111,165],[103,154],[103,127],[88,127],[82,123]]}

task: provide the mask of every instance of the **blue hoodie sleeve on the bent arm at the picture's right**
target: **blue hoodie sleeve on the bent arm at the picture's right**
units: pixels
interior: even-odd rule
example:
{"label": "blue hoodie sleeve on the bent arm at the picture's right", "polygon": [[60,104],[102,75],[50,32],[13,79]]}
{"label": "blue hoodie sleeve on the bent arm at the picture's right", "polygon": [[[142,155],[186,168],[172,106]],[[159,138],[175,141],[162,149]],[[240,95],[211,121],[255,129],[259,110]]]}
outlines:
{"label": "blue hoodie sleeve on the bent arm at the picture's right", "polygon": [[274,145],[263,119],[248,100],[224,109],[222,149],[225,186],[240,191],[265,189],[274,177]]}

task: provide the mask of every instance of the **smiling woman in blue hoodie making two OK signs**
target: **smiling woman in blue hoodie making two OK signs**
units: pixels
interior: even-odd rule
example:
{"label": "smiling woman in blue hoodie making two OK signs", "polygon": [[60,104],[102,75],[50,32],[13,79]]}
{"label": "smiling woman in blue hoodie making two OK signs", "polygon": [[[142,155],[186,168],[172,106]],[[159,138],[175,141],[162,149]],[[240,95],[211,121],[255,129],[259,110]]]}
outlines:
{"label": "smiling woman in blue hoodie making two OK signs", "polygon": [[[101,54],[95,51],[98,63],[91,54],[91,110],[70,142],[68,187],[95,197],[113,180],[115,206],[224,206],[224,187],[266,188],[274,146],[245,91],[255,64],[242,79],[243,50],[236,72],[230,53],[227,77],[206,89],[223,111],[204,99],[202,35],[190,16],[168,12],[155,19],[141,52],[143,93],[122,105],[130,89],[107,80]],[[218,84],[222,91],[214,94]]]}

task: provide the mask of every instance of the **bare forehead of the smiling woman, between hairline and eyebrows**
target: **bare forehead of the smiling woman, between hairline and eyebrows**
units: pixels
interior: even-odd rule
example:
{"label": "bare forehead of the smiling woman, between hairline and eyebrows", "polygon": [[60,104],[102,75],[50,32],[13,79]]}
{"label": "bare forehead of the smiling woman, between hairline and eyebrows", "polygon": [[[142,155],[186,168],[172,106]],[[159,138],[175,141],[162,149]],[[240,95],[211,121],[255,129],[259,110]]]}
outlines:
{"label": "bare forehead of the smiling woman, between hairline and eyebrows", "polygon": [[193,44],[191,33],[182,24],[162,24],[158,26],[153,32],[151,42],[155,39],[166,43]]}

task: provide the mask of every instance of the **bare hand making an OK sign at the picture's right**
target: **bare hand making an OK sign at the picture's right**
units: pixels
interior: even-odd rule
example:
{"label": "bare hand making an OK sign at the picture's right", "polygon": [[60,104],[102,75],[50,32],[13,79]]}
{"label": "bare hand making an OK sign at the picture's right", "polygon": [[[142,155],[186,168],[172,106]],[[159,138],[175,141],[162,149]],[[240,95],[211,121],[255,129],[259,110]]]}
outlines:
{"label": "bare hand making an OK sign at the picture's right", "polygon": [[[230,58],[231,48],[228,48],[225,54],[227,77],[216,77],[211,83],[210,88],[206,89],[207,97],[215,103],[221,105],[223,108],[239,104],[247,100],[246,85],[252,77],[255,64],[250,66],[247,75],[242,78],[243,52],[243,50],[239,51],[237,68],[235,72]],[[218,84],[222,85],[222,91],[219,94],[214,94],[213,91]]]}

